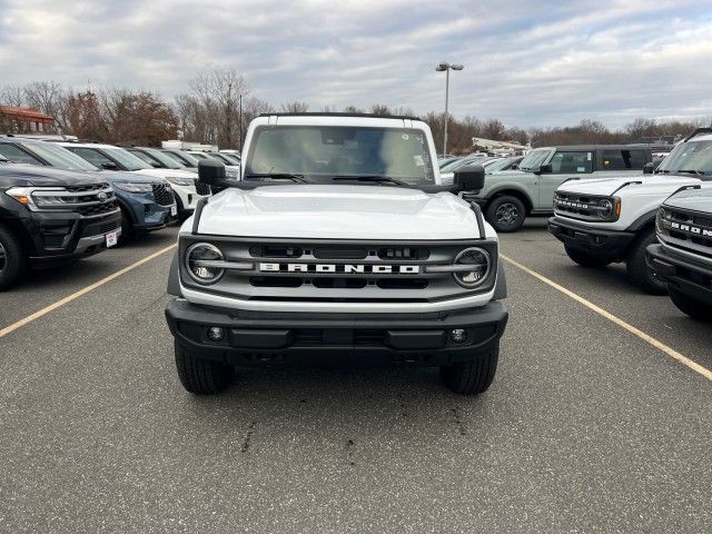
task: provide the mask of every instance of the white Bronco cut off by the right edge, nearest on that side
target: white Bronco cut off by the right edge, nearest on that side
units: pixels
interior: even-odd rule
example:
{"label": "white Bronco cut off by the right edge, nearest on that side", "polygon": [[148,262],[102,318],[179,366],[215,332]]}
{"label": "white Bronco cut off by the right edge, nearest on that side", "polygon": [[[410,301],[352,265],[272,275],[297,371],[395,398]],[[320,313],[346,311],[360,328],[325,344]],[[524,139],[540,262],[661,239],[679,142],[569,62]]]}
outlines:
{"label": "white Bronco cut off by the right edge, nearest on that side", "polygon": [[[708,144],[712,155],[712,140]],[[708,159],[712,172],[712,157]],[[712,184],[686,187],[657,211],[657,240],[647,261],[668,283],[678,308],[698,320],[712,322]]]}

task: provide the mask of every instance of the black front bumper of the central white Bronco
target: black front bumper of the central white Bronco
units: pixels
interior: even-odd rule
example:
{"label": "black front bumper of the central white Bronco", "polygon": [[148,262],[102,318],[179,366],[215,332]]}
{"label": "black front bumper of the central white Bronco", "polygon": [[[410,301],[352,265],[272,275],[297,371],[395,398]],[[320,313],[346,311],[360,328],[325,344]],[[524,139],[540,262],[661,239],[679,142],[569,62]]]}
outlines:
{"label": "black front bumper of the central white Bronco", "polygon": [[[238,366],[418,365],[439,366],[485,355],[504,333],[508,314],[500,301],[434,314],[288,314],[210,308],[182,298],[166,307],[170,332],[202,357]],[[207,332],[225,332],[211,342]],[[463,328],[455,343],[449,330]]]}

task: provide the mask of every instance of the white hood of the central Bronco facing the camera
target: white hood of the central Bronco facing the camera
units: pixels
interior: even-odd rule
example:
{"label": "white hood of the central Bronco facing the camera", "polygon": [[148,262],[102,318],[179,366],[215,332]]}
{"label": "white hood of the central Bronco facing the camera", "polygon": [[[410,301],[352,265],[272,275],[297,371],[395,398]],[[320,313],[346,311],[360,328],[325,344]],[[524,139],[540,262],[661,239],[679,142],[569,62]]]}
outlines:
{"label": "white hood of the central Bronco facing the camera", "polygon": [[477,219],[449,192],[384,186],[226,189],[202,209],[200,234],[316,239],[472,239]]}

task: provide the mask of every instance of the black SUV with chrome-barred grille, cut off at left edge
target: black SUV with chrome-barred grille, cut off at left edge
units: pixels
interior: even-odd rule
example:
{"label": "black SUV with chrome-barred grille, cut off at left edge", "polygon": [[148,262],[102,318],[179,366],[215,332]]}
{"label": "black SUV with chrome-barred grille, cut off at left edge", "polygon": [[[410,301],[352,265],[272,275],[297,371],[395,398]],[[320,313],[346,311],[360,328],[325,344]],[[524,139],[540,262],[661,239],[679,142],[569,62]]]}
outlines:
{"label": "black SUV with chrome-barred grille, cut off at left edge", "polygon": [[27,266],[91,256],[116,245],[120,235],[121,211],[107,182],[0,156],[0,290]]}

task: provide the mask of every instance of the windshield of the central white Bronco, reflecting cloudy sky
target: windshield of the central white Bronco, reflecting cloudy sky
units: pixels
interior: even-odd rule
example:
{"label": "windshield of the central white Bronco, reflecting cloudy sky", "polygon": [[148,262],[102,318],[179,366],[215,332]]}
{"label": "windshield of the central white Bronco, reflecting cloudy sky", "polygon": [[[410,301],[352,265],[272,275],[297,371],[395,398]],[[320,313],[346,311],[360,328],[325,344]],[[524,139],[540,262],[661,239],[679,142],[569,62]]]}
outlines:
{"label": "windshield of the central white Bronco, reflecting cloudy sky", "polygon": [[259,127],[246,165],[247,178],[299,175],[309,181],[325,181],[337,177],[382,177],[407,185],[435,184],[428,141],[425,132],[417,129]]}

